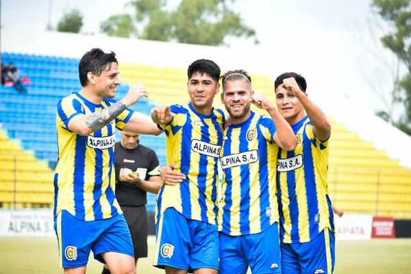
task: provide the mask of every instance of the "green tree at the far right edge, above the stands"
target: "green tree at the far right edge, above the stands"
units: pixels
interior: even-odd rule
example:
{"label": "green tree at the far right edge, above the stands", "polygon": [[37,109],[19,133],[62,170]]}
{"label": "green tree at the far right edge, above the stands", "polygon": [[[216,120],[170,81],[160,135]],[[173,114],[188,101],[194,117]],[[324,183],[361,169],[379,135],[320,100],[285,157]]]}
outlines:
{"label": "green tree at the far right edge, above the stands", "polygon": [[[411,135],[411,0],[373,0],[372,8],[388,24],[388,34],[381,38],[408,73],[394,80],[394,100],[404,104],[406,113],[393,124]],[[388,116],[378,112],[379,116]]]}

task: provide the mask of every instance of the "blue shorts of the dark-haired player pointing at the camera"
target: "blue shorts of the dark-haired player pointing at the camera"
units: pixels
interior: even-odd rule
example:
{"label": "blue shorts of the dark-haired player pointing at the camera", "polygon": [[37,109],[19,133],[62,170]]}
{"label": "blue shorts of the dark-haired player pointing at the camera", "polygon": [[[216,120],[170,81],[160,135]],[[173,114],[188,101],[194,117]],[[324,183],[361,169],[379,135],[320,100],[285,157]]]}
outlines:
{"label": "blue shorts of the dark-haired player pointing at the camera", "polygon": [[186,219],[167,208],[155,225],[153,265],[192,271],[219,269],[219,232],[216,225]]}

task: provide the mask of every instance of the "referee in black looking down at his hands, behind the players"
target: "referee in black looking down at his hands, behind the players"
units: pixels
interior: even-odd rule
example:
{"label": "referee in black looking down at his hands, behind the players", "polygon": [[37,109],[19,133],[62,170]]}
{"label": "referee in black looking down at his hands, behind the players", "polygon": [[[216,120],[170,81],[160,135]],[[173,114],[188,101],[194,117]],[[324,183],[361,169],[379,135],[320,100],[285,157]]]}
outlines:
{"label": "referee in black looking down at his hands, behind the players", "polygon": [[[140,145],[140,134],[121,132],[114,147],[116,198],[132,234],[134,260],[147,257],[147,192],[160,189],[160,166],[153,149]],[[103,269],[102,274],[109,274]]]}

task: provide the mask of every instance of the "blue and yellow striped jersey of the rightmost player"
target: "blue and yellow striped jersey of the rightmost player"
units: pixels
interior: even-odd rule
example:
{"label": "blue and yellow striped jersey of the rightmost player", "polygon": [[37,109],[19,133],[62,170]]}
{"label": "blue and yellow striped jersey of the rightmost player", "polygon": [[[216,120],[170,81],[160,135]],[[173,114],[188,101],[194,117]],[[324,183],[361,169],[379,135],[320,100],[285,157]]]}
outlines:
{"label": "blue and yellow striped jersey of the rightmost player", "polygon": [[328,197],[328,140],[312,132],[308,116],[292,125],[297,137],[294,151],[278,152],[277,188],[282,242],[309,242],[325,227],[334,232]]}

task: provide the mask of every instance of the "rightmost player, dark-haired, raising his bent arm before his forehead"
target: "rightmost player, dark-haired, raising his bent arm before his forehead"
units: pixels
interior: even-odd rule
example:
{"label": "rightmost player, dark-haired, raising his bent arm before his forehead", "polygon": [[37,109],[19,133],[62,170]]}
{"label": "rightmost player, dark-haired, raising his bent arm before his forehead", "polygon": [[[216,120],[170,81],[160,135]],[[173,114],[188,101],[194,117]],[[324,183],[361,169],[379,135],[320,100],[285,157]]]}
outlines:
{"label": "rightmost player, dark-haired, raising his bent arm before his forehead", "polygon": [[279,113],[290,123],[297,147],[280,149],[277,164],[283,273],[334,271],[334,217],[327,188],[331,125],[306,95],[306,79],[275,79]]}

